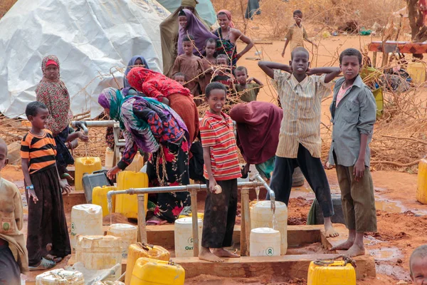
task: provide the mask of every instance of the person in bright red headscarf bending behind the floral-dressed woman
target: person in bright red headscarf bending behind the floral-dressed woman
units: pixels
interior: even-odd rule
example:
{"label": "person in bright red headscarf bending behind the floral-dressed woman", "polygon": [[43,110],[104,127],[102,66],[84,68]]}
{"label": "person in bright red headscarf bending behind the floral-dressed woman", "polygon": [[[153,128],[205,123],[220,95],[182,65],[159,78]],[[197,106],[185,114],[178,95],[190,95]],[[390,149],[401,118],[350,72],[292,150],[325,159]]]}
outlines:
{"label": "person in bright red headscarf bending behind the floral-dressed woman", "polygon": [[144,93],[147,97],[168,103],[184,120],[189,130],[189,142],[194,141],[199,133],[199,112],[188,88],[184,88],[162,73],[142,67],[132,68],[127,74],[127,81],[129,81],[130,86]]}

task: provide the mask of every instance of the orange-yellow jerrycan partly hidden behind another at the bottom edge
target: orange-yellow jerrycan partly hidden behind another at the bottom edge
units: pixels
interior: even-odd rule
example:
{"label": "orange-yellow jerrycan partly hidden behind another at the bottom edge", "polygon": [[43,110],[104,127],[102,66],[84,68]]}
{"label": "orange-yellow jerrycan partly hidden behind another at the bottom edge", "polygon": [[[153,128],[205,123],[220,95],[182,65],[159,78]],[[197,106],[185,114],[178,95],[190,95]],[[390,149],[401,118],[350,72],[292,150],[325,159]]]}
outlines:
{"label": "orange-yellow jerrycan partly hidden behind another at the bottom edge", "polygon": [[171,258],[171,254],[167,249],[164,249],[163,247],[159,247],[157,245],[149,245],[142,243],[131,244],[128,248],[127,253],[125,285],[130,285],[133,268],[135,266],[135,263],[137,262],[137,259],[141,257],[169,261],[169,259]]}

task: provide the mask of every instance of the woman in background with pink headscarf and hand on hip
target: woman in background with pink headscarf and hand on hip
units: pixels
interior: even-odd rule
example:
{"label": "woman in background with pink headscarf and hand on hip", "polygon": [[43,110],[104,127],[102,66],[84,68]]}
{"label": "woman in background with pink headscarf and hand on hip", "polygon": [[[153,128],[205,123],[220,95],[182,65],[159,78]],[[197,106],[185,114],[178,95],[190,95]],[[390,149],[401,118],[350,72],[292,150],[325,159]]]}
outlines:
{"label": "woman in background with pink headscarf and hand on hip", "polygon": [[[219,41],[216,46],[216,53],[226,54],[231,66],[236,67],[236,63],[245,53],[247,53],[253,47],[253,41],[245,36],[237,28],[234,28],[233,21],[231,21],[231,12],[228,10],[220,10],[216,15],[218,19],[219,28],[214,31],[214,34],[218,36]],[[236,41],[241,39],[243,43],[246,43],[246,47],[243,51],[237,53]]]}

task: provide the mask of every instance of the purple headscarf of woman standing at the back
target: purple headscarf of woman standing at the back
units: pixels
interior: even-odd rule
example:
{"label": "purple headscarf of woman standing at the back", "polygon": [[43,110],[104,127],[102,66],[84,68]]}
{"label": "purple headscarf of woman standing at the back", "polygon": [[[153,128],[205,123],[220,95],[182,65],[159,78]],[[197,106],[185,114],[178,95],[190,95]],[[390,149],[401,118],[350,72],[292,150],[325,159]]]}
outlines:
{"label": "purple headscarf of woman standing at the back", "polygon": [[205,42],[208,38],[218,39],[214,33],[211,33],[209,29],[204,26],[204,24],[194,16],[189,9],[182,9],[187,18],[187,26],[183,28],[179,26],[179,35],[178,35],[178,56],[184,54],[184,48],[182,48],[182,40],[187,33],[191,36],[194,36],[194,45],[196,48],[193,49],[193,53],[196,56],[201,55]]}

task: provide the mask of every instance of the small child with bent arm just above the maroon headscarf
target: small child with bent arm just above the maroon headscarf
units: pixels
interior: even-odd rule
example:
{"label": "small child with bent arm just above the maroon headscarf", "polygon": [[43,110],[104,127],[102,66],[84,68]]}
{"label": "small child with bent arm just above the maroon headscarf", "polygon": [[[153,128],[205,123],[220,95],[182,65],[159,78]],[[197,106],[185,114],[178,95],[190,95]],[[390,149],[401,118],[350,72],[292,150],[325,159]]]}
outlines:
{"label": "small child with bent arm just above the maroon headscarf", "polygon": [[[243,102],[256,101],[256,96],[263,87],[263,83],[256,78],[248,78],[248,70],[244,66],[239,66],[234,71],[237,84],[234,89]],[[251,83],[253,81],[253,83]]]}

